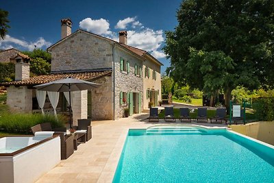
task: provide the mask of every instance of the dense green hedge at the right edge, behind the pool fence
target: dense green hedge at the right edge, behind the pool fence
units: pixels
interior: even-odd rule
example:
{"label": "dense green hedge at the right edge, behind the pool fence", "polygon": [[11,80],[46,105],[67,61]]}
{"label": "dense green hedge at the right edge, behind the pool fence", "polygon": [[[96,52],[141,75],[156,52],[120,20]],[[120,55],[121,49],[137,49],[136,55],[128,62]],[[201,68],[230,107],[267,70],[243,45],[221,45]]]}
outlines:
{"label": "dense green hedge at the right edge, behind the pool fence", "polygon": [[274,120],[274,97],[262,97],[253,99],[253,110],[256,119],[262,121]]}

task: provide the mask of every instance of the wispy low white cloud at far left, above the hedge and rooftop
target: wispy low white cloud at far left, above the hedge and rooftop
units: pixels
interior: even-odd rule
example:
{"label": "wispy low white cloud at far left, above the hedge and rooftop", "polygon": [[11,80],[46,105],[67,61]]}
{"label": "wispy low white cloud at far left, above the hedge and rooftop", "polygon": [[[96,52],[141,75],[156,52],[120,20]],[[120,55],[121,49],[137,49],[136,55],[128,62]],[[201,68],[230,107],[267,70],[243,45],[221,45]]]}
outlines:
{"label": "wispy low white cloud at far left, above the hedge and rooftop", "polygon": [[9,49],[12,47],[21,47],[22,49],[33,50],[34,45],[36,48],[49,47],[51,42],[46,41],[44,38],[40,37],[35,42],[27,42],[26,40],[20,40],[18,38],[13,38],[10,35],[5,35],[4,40],[0,40],[1,49]]}

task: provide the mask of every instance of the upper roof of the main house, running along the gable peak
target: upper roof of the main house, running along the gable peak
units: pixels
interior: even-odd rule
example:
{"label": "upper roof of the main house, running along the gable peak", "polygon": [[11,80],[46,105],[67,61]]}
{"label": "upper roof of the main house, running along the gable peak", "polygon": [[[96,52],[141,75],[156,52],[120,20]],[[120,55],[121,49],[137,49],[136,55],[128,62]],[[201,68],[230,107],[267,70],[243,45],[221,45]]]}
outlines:
{"label": "upper roof of the main house, running along the gable peak", "polygon": [[[99,35],[97,35],[97,34],[93,34],[93,33],[91,33],[91,32],[87,32],[87,31],[82,30],[82,29],[77,29],[77,31],[76,31],[76,32],[73,32],[73,34],[76,34],[77,32],[85,32],[85,33],[87,33],[87,34],[91,34],[91,35],[93,35],[93,36],[97,36],[97,37],[99,37],[99,38],[103,38],[103,39],[108,40],[108,41],[110,41],[110,42],[114,42],[114,44],[119,45],[121,48],[123,48],[123,49],[129,51],[130,53],[133,53],[135,56],[137,56],[138,58],[140,58],[140,59],[142,59],[142,60],[145,60],[144,56],[147,55],[147,56],[149,56],[150,58],[152,58],[155,62],[157,62],[158,64],[163,65],[159,60],[157,60],[156,58],[154,58],[153,56],[151,56],[151,54],[149,54],[149,53],[148,53],[147,51],[145,51],[145,50],[138,49],[138,48],[136,48],[136,47],[132,47],[132,46],[129,46],[129,45],[125,45],[125,44],[123,44],[123,43],[121,43],[121,42],[117,42],[116,40],[112,40],[112,39],[110,39],[110,38],[105,38],[105,37],[103,37],[103,36],[99,36]],[[55,47],[55,45],[60,44],[60,42],[63,42],[63,41],[66,40],[67,38],[71,37],[73,34],[71,34],[71,35],[69,35],[69,36],[66,36],[65,38],[62,38],[62,39],[59,40],[58,42],[55,42],[55,44],[53,44],[53,45],[51,45],[50,47],[48,47],[47,50],[50,51],[50,49],[51,49],[52,47]]]}

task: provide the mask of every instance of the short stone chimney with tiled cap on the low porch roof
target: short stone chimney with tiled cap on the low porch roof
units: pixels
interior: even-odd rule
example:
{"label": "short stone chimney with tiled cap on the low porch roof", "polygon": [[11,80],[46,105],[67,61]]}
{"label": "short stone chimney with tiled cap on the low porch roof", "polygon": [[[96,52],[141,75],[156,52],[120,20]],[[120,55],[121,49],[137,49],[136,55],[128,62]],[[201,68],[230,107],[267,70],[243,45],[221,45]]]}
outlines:
{"label": "short stone chimney with tiled cap on the low porch roof", "polygon": [[29,79],[29,56],[18,53],[15,60],[15,81]]}

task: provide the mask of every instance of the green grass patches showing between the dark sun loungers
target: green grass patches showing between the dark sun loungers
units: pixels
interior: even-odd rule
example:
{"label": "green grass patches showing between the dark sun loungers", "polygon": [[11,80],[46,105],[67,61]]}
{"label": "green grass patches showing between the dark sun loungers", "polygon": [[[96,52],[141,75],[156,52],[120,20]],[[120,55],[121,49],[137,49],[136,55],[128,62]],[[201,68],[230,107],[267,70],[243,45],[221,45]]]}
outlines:
{"label": "green grass patches showing between the dark sun loungers", "polygon": [[[190,117],[192,119],[195,119],[197,117],[197,112],[198,112],[197,109],[195,109],[193,113],[190,112],[189,113]],[[216,116],[216,110],[210,110],[210,109],[208,109],[207,110],[207,115],[208,115],[208,119]],[[256,121],[256,116],[255,116],[255,114],[252,111],[247,111],[245,115],[246,115],[247,122]],[[178,108],[174,109],[174,117],[177,118],[177,119],[179,119],[179,109]],[[159,118],[160,119],[164,119],[164,110],[162,110],[160,112]],[[229,115],[227,115],[227,120],[229,120]]]}

